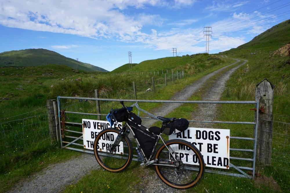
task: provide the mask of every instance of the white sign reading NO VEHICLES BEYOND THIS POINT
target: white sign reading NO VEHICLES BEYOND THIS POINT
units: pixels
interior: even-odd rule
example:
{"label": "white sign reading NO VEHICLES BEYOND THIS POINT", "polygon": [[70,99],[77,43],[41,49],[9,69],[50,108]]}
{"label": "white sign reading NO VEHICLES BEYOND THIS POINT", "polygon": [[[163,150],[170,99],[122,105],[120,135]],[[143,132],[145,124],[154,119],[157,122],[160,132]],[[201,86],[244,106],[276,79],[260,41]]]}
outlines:
{"label": "white sign reading NO VEHICLES BEYOND THIS POINT", "polygon": [[[86,149],[94,149],[95,138],[98,133],[106,128],[110,128],[110,122],[108,121],[100,121],[100,120],[90,120],[90,119],[82,119],[83,124],[83,139],[84,139],[84,148]],[[113,128],[121,129],[122,123],[118,123],[112,126]],[[97,149],[99,151],[106,151],[108,146],[115,141],[117,137],[117,133],[108,133],[99,140],[97,144]],[[117,147],[117,154],[123,154],[123,142],[121,141],[119,146]]]}

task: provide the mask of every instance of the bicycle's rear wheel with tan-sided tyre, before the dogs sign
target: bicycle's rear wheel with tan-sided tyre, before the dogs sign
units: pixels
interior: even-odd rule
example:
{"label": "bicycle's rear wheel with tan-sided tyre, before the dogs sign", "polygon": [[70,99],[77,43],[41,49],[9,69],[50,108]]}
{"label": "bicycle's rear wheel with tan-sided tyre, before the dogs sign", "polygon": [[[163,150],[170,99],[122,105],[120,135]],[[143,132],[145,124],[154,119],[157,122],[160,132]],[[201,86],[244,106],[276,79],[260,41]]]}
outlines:
{"label": "bicycle's rear wheel with tan-sided tyre, before the dogs sign", "polygon": [[200,151],[193,144],[180,139],[166,141],[166,146],[161,145],[155,154],[158,177],[177,189],[195,186],[204,174],[204,160]]}

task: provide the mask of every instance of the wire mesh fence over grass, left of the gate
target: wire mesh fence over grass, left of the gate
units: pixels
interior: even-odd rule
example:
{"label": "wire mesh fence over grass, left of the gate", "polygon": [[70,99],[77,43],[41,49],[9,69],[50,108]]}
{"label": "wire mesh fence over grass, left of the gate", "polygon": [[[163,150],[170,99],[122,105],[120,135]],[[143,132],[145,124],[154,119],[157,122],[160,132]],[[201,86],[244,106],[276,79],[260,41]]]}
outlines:
{"label": "wire mesh fence over grass, left of the gate", "polygon": [[34,111],[0,119],[2,167],[14,158],[45,148],[45,143],[50,141],[46,108],[42,106]]}

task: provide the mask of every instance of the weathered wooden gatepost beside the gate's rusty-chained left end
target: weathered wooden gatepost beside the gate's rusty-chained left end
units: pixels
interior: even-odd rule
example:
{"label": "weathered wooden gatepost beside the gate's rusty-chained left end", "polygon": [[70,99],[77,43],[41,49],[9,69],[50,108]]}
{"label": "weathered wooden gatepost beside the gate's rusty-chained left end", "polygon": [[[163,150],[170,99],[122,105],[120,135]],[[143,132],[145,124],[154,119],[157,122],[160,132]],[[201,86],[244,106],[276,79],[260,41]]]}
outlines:
{"label": "weathered wooden gatepost beside the gate's rusty-chained left end", "polygon": [[55,111],[53,108],[54,101],[55,99],[46,101],[49,134],[52,139],[51,142],[53,142],[54,140],[57,140]]}

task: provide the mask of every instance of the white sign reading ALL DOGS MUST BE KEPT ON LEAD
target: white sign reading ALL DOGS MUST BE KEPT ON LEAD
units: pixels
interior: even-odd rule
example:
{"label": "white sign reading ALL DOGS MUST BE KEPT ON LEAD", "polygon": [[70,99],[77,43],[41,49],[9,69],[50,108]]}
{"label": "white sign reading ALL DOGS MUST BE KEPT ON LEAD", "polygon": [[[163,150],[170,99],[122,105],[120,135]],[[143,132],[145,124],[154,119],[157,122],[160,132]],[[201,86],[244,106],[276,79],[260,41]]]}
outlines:
{"label": "white sign reading ALL DOGS MUST BE KEPT ON LEAD", "polygon": [[[200,150],[207,167],[229,169],[230,161],[230,130],[189,127],[183,132],[169,136],[169,139],[184,139]],[[186,155],[185,147],[176,147],[180,157],[188,164],[197,164],[195,155]]]}

